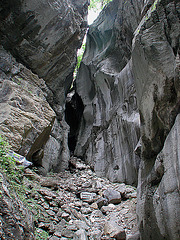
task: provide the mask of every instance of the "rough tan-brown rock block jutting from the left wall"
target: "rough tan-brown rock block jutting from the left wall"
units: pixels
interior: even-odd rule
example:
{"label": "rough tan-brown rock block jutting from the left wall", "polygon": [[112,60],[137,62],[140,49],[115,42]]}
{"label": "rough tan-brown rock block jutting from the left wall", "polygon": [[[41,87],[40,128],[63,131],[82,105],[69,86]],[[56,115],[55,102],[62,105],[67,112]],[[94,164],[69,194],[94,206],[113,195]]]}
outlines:
{"label": "rough tan-brown rock block jutting from the left wall", "polygon": [[12,149],[33,160],[43,148],[55,120],[41,87],[42,79],[0,51],[0,130]]}

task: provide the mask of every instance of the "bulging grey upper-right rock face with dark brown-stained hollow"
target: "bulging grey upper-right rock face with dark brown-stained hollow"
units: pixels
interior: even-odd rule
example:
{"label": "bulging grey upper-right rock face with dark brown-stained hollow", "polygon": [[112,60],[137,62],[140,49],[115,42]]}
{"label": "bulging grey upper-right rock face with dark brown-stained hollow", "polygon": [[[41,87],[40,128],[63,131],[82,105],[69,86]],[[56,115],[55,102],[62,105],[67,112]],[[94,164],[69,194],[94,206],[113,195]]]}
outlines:
{"label": "bulging grey upper-right rock face with dark brown-stained hollow", "polygon": [[155,1],[133,40],[143,158],[159,153],[179,112],[178,6],[174,1]]}

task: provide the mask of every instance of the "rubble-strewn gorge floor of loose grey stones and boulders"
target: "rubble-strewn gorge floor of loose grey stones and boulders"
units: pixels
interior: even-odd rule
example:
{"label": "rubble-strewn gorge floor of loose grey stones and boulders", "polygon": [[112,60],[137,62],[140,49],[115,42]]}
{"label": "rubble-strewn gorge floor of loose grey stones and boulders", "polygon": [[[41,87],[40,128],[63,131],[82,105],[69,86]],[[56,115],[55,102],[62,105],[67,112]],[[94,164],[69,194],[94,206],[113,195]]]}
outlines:
{"label": "rubble-strewn gorge floor of loose grey stones and boulders", "polygon": [[36,239],[135,239],[134,187],[99,178],[76,158],[71,171],[42,177],[26,169],[23,181]]}

